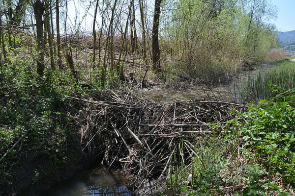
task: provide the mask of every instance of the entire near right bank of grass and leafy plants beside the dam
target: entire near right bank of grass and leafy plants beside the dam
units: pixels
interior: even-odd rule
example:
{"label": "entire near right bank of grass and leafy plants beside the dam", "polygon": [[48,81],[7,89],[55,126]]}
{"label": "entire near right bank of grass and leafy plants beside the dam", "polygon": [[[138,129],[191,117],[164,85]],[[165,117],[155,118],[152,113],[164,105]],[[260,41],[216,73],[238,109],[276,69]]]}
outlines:
{"label": "entire near right bank of grass and leafy plants beside the dam", "polygon": [[236,114],[217,136],[204,135],[194,161],[174,168],[166,194],[293,195],[295,89],[276,94]]}

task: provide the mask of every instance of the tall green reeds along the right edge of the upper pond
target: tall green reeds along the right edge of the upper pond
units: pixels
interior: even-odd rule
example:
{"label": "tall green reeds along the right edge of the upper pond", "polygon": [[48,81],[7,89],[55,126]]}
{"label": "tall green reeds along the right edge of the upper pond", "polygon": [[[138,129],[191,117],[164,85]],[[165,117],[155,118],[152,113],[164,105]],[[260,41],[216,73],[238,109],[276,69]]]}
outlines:
{"label": "tall green reeds along the right edge of the upper pond", "polygon": [[295,87],[295,62],[274,61],[275,66],[266,71],[249,75],[248,79],[236,86],[243,101],[259,101],[275,95],[272,87],[290,90]]}

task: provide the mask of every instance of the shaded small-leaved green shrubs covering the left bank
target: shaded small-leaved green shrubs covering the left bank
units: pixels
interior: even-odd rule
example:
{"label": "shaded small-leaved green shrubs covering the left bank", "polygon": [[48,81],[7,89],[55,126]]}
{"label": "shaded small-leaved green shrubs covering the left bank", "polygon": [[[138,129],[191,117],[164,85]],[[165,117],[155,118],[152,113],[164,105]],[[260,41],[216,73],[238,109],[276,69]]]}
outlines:
{"label": "shaded small-leaved green shrubs covering the left bank", "polygon": [[[41,78],[29,62],[15,61],[0,68],[0,157],[27,131],[21,150],[14,149],[0,163],[0,176],[22,150],[50,155],[52,165],[64,163],[64,140],[71,121],[65,110],[67,96],[85,93],[69,71]],[[8,164],[9,163],[9,164]],[[7,176],[6,176],[7,177]],[[37,179],[37,178],[36,178]]]}

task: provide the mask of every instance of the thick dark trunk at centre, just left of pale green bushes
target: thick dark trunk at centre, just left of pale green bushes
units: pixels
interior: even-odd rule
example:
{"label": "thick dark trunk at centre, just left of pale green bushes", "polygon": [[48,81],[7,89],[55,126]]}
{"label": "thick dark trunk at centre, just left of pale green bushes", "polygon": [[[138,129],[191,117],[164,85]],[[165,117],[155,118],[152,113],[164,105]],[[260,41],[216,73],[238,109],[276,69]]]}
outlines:
{"label": "thick dark trunk at centre, just left of pale green bushes", "polygon": [[160,71],[160,49],[159,49],[159,20],[160,6],[162,0],[155,0],[155,11],[152,25],[152,67],[155,71]]}

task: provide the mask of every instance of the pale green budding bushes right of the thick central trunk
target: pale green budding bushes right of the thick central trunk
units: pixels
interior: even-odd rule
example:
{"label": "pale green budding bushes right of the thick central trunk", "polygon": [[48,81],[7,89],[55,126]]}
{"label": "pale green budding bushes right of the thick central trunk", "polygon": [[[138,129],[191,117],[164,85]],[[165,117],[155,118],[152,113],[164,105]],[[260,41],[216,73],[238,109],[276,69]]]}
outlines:
{"label": "pale green budding bushes right of the thick central trunk", "polygon": [[244,64],[260,63],[278,47],[274,27],[263,22],[275,17],[269,0],[167,4],[174,9],[163,17],[172,19],[165,21],[160,45],[161,60],[173,62],[165,63],[173,64],[171,75],[180,73],[206,84],[228,83]]}

